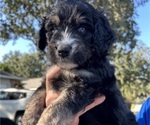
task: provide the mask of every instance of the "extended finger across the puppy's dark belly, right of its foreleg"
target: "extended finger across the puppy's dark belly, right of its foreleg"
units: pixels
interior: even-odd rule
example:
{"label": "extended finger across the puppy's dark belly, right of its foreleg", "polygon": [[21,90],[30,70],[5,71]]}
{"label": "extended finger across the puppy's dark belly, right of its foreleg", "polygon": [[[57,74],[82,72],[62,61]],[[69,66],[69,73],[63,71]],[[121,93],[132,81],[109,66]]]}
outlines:
{"label": "extended finger across the puppy's dark belly, right of its foreleg", "polygon": [[103,103],[105,101],[106,97],[104,95],[100,95],[99,97],[95,98],[94,102],[88,105],[84,111],[80,111],[78,113],[78,116],[83,115],[85,112],[89,111],[90,109],[94,108],[95,106]]}

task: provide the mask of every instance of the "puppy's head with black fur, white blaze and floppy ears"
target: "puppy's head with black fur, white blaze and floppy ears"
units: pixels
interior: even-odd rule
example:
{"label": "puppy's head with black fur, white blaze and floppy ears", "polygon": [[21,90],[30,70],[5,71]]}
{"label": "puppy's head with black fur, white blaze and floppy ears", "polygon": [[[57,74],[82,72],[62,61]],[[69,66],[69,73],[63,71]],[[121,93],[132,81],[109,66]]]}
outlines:
{"label": "puppy's head with black fur, white blaze and floppy ears", "polygon": [[48,48],[53,64],[79,67],[92,56],[106,55],[114,41],[107,19],[88,3],[65,0],[54,6],[40,30],[39,48]]}

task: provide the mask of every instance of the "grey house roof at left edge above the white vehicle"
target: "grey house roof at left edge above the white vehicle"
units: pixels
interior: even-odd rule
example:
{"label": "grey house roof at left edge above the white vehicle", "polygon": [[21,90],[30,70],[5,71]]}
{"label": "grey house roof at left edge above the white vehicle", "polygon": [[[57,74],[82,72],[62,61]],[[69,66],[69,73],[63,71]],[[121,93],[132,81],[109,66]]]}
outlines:
{"label": "grey house roof at left edge above the white vehicle", "polygon": [[12,79],[12,80],[23,80],[24,78],[22,77],[18,77],[18,76],[14,76],[8,72],[5,72],[5,71],[0,71],[0,79],[1,78],[4,78],[4,79]]}

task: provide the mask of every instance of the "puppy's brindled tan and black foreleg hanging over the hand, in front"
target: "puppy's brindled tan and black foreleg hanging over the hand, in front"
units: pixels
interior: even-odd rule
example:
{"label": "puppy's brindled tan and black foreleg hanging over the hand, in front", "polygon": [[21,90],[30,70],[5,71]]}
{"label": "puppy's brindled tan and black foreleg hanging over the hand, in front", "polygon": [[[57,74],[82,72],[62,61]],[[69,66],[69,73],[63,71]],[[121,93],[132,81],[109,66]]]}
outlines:
{"label": "puppy's brindled tan and black foreleg hanging over the hand, in front", "polygon": [[60,93],[42,113],[37,125],[70,125],[74,116],[93,102],[90,95],[94,90],[76,85]]}

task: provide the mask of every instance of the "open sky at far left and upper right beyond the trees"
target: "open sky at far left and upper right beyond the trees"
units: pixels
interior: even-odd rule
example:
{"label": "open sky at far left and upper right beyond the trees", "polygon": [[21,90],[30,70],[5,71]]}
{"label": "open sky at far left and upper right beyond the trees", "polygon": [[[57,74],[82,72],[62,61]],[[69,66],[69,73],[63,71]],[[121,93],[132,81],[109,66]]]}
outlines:
{"label": "open sky at far left and upper right beyond the trees", "polygon": [[[138,17],[136,17],[136,22],[140,31],[140,36],[137,38],[145,43],[146,46],[150,47],[150,1],[144,6],[139,6],[137,8],[137,14]],[[7,54],[9,51],[18,50],[21,53],[30,52],[31,45],[33,45],[31,41],[21,38],[16,41],[16,44],[14,44],[14,41],[9,41],[5,46],[0,43],[0,61],[2,61],[3,55]]]}

